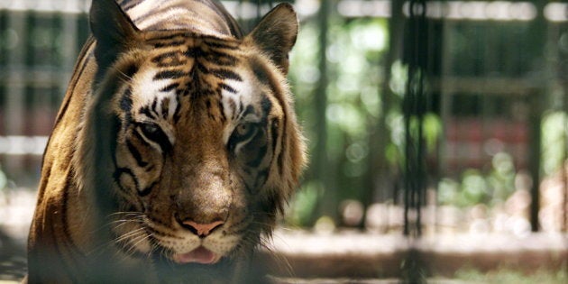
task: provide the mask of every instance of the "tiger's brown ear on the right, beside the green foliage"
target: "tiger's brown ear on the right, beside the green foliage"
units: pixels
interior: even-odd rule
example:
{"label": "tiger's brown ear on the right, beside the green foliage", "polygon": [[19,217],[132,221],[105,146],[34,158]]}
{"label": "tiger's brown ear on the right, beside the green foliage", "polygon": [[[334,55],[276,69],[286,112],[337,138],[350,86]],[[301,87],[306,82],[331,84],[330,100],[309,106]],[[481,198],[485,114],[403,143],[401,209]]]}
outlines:
{"label": "tiger's brown ear on the right, beside the green foliage", "polygon": [[297,36],[298,16],[294,7],[282,3],[266,14],[247,37],[287,74],[289,51],[296,43]]}

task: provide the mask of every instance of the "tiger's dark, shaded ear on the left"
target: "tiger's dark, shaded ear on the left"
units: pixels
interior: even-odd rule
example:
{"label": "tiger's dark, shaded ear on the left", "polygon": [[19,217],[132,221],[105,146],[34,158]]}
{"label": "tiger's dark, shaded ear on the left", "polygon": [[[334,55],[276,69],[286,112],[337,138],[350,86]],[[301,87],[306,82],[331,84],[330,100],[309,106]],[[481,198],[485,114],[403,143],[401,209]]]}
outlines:
{"label": "tiger's dark, shaded ear on the left", "polygon": [[95,57],[99,64],[113,62],[140,32],[115,0],[93,0],[89,22],[96,39]]}

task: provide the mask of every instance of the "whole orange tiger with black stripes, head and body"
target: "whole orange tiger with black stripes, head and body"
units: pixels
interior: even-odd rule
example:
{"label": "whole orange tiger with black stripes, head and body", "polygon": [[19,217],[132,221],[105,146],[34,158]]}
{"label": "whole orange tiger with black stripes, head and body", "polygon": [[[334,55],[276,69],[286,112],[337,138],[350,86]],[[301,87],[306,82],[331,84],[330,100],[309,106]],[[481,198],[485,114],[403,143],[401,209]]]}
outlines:
{"label": "whole orange tiger with black stripes, head and body", "polygon": [[[290,4],[96,0],[43,155],[24,283],[254,283],[306,167]],[[258,255],[258,253],[257,253]]]}

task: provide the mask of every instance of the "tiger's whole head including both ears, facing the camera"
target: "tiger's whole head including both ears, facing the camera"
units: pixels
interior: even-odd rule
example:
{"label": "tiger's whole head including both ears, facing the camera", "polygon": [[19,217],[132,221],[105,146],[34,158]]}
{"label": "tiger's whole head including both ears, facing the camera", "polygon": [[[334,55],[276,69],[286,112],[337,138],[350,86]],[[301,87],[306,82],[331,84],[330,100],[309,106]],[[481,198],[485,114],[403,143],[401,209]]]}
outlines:
{"label": "tiger's whole head including both ears, facing the camera", "polygon": [[79,171],[115,244],[174,266],[243,257],[305,163],[285,80],[295,12],[279,5],[238,39],[140,31],[108,3],[91,10],[98,70],[82,149],[93,163]]}

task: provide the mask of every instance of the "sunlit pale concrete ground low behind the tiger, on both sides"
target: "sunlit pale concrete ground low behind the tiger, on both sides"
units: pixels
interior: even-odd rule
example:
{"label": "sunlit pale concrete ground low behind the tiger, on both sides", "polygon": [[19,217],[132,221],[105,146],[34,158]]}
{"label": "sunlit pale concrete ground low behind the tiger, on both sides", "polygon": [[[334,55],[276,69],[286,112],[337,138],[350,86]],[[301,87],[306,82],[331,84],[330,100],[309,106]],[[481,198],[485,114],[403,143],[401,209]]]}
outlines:
{"label": "sunlit pale concrete ground low behind the tiger, on both sides", "polygon": [[[25,240],[34,205],[32,190],[0,191],[0,284],[15,283],[25,273]],[[405,265],[442,277],[428,279],[441,284],[464,283],[451,279],[464,266],[481,271],[568,269],[568,234],[430,234],[411,240],[400,234],[280,228],[269,248],[270,253],[259,255],[271,264],[277,283],[399,283],[412,269]]]}

